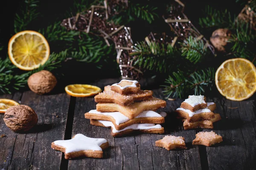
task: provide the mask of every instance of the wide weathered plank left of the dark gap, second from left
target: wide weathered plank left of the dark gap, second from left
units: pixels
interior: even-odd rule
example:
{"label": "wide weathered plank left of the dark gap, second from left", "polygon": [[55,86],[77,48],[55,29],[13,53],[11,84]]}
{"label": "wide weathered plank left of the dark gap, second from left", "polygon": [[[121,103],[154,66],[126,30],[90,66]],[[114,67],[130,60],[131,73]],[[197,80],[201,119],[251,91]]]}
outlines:
{"label": "wide weathered plank left of the dark gap, second from left", "polygon": [[52,150],[51,142],[64,139],[69,102],[67,94],[40,96],[32,91],[23,93],[21,103],[35,110],[38,125],[28,133],[15,133],[9,169],[60,168],[62,153]]}

